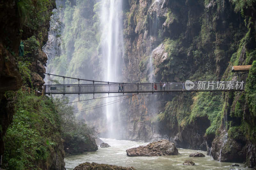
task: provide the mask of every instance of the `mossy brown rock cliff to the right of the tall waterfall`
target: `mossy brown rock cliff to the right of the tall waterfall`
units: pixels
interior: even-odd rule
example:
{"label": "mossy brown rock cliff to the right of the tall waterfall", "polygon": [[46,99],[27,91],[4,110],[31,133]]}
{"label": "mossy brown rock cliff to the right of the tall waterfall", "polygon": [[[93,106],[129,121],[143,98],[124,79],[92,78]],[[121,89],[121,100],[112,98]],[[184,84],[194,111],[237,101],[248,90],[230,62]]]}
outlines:
{"label": "mossy brown rock cliff to the right of the tall waterfall", "polygon": [[[129,1],[124,19],[126,81],[150,81],[151,58],[156,82],[230,76],[232,65],[252,64],[256,47],[253,5],[255,2],[227,0]],[[245,81],[247,76],[244,74],[239,80]],[[231,79],[236,80],[226,78]],[[238,161],[240,158],[239,161],[247,160],[247,165],[254,167],[252,132],[246,137],[241,130],[243,137],[238,139],[231,135],[233,128],[243,129],[243,119],[245,124],[249,123],[246,128],[252,128],[254,116],[246,119],[250,111],[238,118],[234,116],[236,103],[243,95],[238,92],[181,93],[162,95],[153,101],[138,97],[135,102],[130,101],[128,107],[132,111],[126,112],[132,113],[128,114],[131,116],[127,118],[127,129],[133,132],[127,133],[127,138],[153,139],[152,129],[157,129],[162,137],[168,137],[178,147],[208,148],[209,152],[212,147],[214,159]],[[155,110],[148,107],[143,110],[138,102],[146,106],[152,102],[157,104]],[[240,110],[248,110],[245,103],[239,103]],[[134,122],[139,123],[134,125]],[[144,131],[133,128],[141,125]]]}

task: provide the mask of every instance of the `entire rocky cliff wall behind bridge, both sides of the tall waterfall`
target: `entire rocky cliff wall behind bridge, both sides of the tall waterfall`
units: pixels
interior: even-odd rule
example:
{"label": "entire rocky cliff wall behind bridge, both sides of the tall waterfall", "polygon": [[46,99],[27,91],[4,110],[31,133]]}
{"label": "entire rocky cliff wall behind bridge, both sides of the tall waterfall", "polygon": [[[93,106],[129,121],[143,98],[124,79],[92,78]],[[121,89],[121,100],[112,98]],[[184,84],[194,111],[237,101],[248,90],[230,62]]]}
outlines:
{"label": "entire rocky cliff wall behind bridge, both sides of the tall waterfall", "polygon": [[[65,4],[62,20],[72,23],[63,29],[68,52],[60,56],[60,63],[53,61],[49,70],[70,77],[104,79],[99,29],[101,3],[86,4],[75,0]],[[254,6],[254,1],[243,0],[124,1],[124,82],[237,80],[231,72],[232,65],[252,64],[256,59]],[[247,77],[248,73],[240,75],[239,80],[245,81]],[[253,95],[246,93],[133,96],[116,108],[114,134],[118,139],[138,141],[166,138],[177,147],[208,150],[220,161],[240,157],[253,167],[255,115],[247,107]],[[81,109],[102,103],[94,100],[76,106]],[[107,137],[104,109],[82,112],[80,118]],[[246,129],[251,130],[247,133]],[[240,132],[235,133],[237,130]],[[230,144],[234,146],[231,149],[227,147]]]}

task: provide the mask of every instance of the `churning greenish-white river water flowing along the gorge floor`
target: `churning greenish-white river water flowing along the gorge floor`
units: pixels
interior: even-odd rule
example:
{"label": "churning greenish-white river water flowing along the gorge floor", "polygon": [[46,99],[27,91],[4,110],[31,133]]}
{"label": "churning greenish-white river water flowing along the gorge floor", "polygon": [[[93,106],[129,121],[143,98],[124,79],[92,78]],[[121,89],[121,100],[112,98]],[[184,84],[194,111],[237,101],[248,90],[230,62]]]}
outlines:
{"label": "churning greenish-white river water flowing along the gorge floor", "polygon": [[[96,152],[85,152],[81,155],[72,155],[65,158],[67,170],[73,170],[77,165],[84,162],[104,163],[117,166],[133,166],[138,170],[161,169],[161,170],[249,170],[244,168],[244,164],[239,163],[239,167],[230,167],[234,163],[218,162],[206,155],[205,151],[196,151],[190,149],[178,148],[180,155],[160,156],[160,157],[128,157],[126,149],[138,147],[139,145],[147,145],[148,143],[133,142],[128,140],[104,139],[111,147],[100,148]],[[205,157],[191,158],[189,154],[194,152],[202,152]],[[195,162],[195,166],[184,166],[182,163],[186,159],[191,159]]]}

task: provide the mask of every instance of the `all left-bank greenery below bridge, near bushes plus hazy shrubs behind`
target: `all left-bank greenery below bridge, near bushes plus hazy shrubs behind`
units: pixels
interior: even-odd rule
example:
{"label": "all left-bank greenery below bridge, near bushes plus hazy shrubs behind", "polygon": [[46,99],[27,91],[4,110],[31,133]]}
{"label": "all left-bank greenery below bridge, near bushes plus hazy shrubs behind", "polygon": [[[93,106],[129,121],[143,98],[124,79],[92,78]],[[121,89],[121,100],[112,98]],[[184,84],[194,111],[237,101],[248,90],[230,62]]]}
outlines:
{"label": "all left-bank greenery below bridge, near bushes plus hazy shrubs behind", "polygon": [[[87,151],[94,147],[93,129],[84,121],[77,121],[72,106],[61,105],[62,99],[36,96],[33,89],[22,87],[17,92],[6,92],[6,97],[15,98],[13,122],[4,137],[5,152],[3,167],[8,170],[43,169],[51,165],[52,155],[62,154],[65,146],[79,152],[83,143]],[[66,99],[67,101],[68,99]]]}

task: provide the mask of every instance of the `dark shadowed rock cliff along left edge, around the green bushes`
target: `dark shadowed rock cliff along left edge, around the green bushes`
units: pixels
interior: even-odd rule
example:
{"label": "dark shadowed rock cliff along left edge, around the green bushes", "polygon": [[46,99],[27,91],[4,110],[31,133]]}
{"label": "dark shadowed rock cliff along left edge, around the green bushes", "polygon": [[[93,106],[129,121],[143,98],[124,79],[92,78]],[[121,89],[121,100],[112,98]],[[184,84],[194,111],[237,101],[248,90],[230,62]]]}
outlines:
{"label": "dark shadowed rock cliff along left edge, around the green bushes", "polygon": [[[17,109],[15,108],[17,93],[16,96],[13,96],[10,95],[13,94],[11,91],[20,89],[22,85],[41,90],[44,84],[44,66],[46,66],[47,56],[41,48],[48,39],[49,20],[54,8],[55,1],[52,0],[3,1],[0,3],[0,23],[2,25],[0,29],[1,159],[4,153],[4,135],[12,123],[13,114],[17,112],[15,110]],[[24,56],[19,55],[21,40],[25,45]],[[49,152],[50,155],[48,155],[47,160],[42,159],[42,161],[35,163],[38,167],[45,169],[64,168],[63,141],[60,140],[59,136],[54,140],[55,145]],[[14,167],[16,163],[9,162],[9,165]],[[28,167],[23,168],[28,169]]]}

